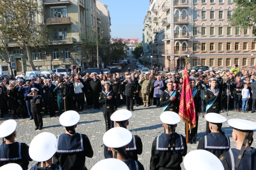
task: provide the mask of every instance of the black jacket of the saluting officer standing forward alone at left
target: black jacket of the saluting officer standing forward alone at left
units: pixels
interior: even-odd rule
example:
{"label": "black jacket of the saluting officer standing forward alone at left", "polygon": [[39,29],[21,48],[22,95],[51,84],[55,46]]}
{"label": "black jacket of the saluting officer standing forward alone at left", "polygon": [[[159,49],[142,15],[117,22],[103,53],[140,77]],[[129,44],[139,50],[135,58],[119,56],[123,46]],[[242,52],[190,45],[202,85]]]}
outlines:
{"label": "black jacket of the saluting officer standing forward alone at left", "polygon": [[24,100],[30,101],[32,113],[40,113],[44,110],[44,100],[42,96],[36,95],[36,98],[34,98],[33,95],[25,96]]}

